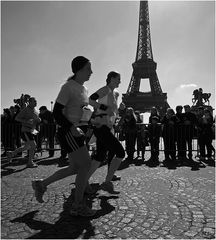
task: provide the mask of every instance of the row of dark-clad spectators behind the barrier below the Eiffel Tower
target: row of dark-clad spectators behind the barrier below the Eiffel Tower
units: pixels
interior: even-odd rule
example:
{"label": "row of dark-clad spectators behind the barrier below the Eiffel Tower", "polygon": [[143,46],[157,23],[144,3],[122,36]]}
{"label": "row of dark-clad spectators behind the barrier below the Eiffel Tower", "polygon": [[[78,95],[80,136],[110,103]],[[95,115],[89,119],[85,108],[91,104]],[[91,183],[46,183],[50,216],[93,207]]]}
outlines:
{"label": "row of dark-clad spectators behind the barrier below the Eiffel Tower", "polygon": [[[184,109],[184,111],[183,111]],[[121,111],[121,120],[116,130],[121,141],[125,141],[127,160],[133,162],[134,153],[142,153],[145,160],[146,146],[150,146],[151,158],[146,164],[159,164],[159,144],[161,138],[164,145],[164,164],[183,164],[185,161],[193,161],[192,140],[197,139],[199,159],[212,160],[215,148],[212,141],[215,138],[215,119],[211,110],[200,106],[196,112],[189,105],[176,106],[176,109],[168,108],[165,116],[160,116],[153,107],[148,124],[140,120],[140,112],[133,108],[125,108]]]}

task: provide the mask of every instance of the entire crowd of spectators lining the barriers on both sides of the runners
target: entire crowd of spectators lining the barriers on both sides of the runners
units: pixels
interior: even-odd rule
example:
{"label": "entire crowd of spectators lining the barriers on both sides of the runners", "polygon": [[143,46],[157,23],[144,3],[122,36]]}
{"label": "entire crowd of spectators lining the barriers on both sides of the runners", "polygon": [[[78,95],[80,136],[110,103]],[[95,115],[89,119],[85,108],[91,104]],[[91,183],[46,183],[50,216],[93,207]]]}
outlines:
{"label": "entire crowd of spectators lining the barriers on both sides of the runners", "polygon": [[[25,108],[29,95],[23,95],[20,99],[14,99],[14,106],[3,110],[1,115],[1,144],[4,149],[2,156],[7,151],[13,151],[21,146],[21,124],[16,121],[16,116]],[[119,107],[119,118],[114,130],[120,141],[125,141],[127,160],[132,162],[137,151],[137,157],[145,160],[146,147],[150,146],[151,158],[146,161],[149,164],[159,163],[159,144],[163,139],[164,163],[183,163],[192,160],[192,140],[197,139],[200,160],[211,159],[215,154],[212,144],[215,138],[215,119],[212,112],[204,106],[191,111],[189,105],[176,106],[176,109],[168,108],[165,116],[160,116],[153,107],[149,121],[143,123],[141,113],[132,107],[125,107],[123,103]],[[49,157],[54,156],[56,124],[53,114],[46,106],[39,107],[41,122],[37,126],[36,135],[37,150],[41,151],[42,142],[47,140]],[[19,153],[21,156],[22,153]],[[64,149],[61,149],[61,159],[66,158]]]}

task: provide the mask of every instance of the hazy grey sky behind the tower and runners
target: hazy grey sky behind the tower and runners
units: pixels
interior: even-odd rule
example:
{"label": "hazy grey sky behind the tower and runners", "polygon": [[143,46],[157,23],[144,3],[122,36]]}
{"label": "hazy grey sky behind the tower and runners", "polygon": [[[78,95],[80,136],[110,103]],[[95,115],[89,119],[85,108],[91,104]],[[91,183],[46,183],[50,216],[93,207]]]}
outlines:
{"label": "hazy grey sky behind the tower and runners", "polygon": [[[215,108],[215,2],[149,1],[153,59],[172,108],[192,105],[193,90]],[[71,60],[90,59],[89,94],[121,74],[126,93],[135,61],[139,1],[1,1],[1,112],[22,93],[51,109]],[[140,91],[149,91],[142,81]]]}

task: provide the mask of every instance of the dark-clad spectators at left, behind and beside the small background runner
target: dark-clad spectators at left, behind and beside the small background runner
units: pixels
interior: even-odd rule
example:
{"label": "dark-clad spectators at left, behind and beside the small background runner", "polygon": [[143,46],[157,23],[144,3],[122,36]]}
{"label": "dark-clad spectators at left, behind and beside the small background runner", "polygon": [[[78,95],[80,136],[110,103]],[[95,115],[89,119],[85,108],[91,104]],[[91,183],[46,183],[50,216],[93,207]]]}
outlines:
{"label": "dark-clad spectators at left, behind and beside the small background runner", "polygon": [[[14,106],[3,109],[1,115],[1,144],[4,149],[2,157],[6,156],[8,151],[14,151],[21,146],[21,123],[16,121],[18,113],[28,105],[30,95],[22,94],[20,99],[14,99]],[[37,124],[36,129],[38,134],[35,135],[37,144],[37,151],[42,149],[43,140],[47,140],[49,157],[54,156],[54,144],[56,134],[56,124],[53,114],[46,106],[39,108],[40,123]],[[22,152],[17,154],[22,156]]]}

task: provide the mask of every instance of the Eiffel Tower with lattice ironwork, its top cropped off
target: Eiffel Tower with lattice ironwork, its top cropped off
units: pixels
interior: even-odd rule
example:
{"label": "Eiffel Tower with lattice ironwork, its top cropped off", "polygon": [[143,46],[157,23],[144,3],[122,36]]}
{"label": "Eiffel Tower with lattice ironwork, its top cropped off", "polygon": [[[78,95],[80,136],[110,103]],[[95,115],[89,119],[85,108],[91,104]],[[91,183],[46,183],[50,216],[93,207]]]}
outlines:
{"label": "Eiffel Tower with lattice ironwork, its top cropped off", "polygon": [[[132,67],[132,77],[127,93],[122,94],[122,101],[127,107],[133,107],[141,113],[150,112],[155,106],[164,115],[169,104],[167,94],[163,93],[157,77],[157,63],[153,60],[148,1],[140,1],[138,44]],[[150,92],[140,92],[141,80],[149,80]]]}

